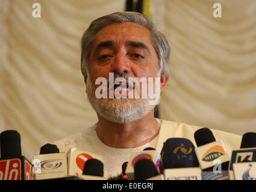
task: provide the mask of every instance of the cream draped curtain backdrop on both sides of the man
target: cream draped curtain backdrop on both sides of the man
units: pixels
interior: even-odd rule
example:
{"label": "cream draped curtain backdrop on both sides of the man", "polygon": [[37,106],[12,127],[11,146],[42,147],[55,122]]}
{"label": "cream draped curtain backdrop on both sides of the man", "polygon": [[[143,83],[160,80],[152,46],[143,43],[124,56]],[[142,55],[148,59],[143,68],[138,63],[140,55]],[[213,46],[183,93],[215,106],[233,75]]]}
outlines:
{"label": "cream draped curtain backdrop on both sides of the man", "polygon": [[[41,5],[41,18],[32,5]],[[256,1],[153,0],[171,47],[160,118],[231,133],[256,131]],[[97,121],[80,72],[80,38],[122,0],[0,0],[0,131],[28,158]]]}

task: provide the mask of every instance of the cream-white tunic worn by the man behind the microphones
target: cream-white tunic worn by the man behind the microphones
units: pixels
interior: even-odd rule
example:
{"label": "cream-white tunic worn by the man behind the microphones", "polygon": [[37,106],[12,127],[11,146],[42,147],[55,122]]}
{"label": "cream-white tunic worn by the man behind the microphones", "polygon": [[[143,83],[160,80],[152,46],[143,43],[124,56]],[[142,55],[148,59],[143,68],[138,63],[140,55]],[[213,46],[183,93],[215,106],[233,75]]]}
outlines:
{"label": "cream-white tunic worn by the man behind the microphones", "polygon": [[[145,145],[139,146],[137,148],[119,149],[112,148],[105,145],[99,140],[96,134],[96,124],[92,127],[86,128],[80,133],[73,134],[72,136],[66,137],[64,139],[54,142],[58,146],[60,152],[67,152],[70,148],[78,148],[87,152],[93,152],[94,154],[102,155],[104,163],[104,177],[110,178],[111,176],[120,175],[122,172],[122,164],[128,161],[130,154],[133,151],[143,151],[147,147],[152,147],[161,152],[163,147],[163,142],[172,137],[183,137],[190,139],[192,143],[196,146],[194,133],[196,130],[202,127],[197,127],[193,125],[186,125],[178,122],[172,121],[161,121],[157,119],[160,123],[160,133],[154,140]],[[226,151],[230,157],[231,151],[234,149],[239,149],[242,136],[236,134],[226,133],[224,131],[212,130],[216,140],[223,140],[226,147]]]}

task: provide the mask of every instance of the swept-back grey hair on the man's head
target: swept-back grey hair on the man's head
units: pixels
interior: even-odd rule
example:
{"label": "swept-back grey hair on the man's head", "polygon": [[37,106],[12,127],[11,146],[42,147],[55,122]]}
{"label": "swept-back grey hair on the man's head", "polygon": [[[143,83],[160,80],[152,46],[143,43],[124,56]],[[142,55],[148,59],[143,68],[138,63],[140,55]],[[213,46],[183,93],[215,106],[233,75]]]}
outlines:
{"label": "swept-back grey hair on the man's head", "polygon": [[154,23],[149,17],[138,12],[116,12],[107,16],[99,17],[90,24],[81,39],[81,71],[87,77],[90,52],[96,40],[96,34],[107,25],[113,23],[133,22],[142,25],[151,31],[151,41],[158,56],[160,76],[169,76],[169,55],[170,46],[164,34],[155,28]]}

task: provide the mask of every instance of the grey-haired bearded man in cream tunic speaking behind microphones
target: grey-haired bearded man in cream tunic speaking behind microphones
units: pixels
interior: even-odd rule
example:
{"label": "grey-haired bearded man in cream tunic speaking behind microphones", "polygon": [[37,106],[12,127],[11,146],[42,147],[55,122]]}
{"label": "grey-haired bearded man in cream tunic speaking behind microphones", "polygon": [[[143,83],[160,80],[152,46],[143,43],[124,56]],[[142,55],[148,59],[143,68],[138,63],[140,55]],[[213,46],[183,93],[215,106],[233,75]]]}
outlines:
{"label": "grey-haired bearded man in cream tunic speaking behind microphones", "polygon": [[[193,134],[201,127],[154,118],[154,108],[169,79],[170,47],[148,17],[120,12],[96,19],[84,32],[81,48],[86,92],[98,122],[55,142],[60,151],[75,147],[102,155],[104,176],[109,178],[122,172],[122,164],[129,160],[132,151],[146,147],[161,151],[163,142],[170,137],[185,137],[196,146]],[[146,97],[142,97],[145,89],[133,86],[138,82],[131,83],[131,77],[144,78],[148,83]],[[120,81],[114,85],[112,80],[117,79]],[[101,97],[104,91],[107,98]],[[158,102],[152,104],[150,91],[157,93]],[[139,97],[135,97],[136,92]],[[130,93],[133,97],[128,97]],[[217,130],[213,133],[216,139],[224,140],[229,154],[233,148],[239,148],[241,136]]]}

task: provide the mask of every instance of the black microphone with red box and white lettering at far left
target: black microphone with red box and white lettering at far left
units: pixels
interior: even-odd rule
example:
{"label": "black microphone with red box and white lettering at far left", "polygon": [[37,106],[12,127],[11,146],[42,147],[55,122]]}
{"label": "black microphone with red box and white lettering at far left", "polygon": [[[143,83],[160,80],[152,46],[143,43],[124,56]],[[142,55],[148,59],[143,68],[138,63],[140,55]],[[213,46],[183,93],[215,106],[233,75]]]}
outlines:
{"label": "black microphone with red box and white lettering at far left", "polygon": [[0,180],[33,180],[33,166],[22,156],[20,134],[16,130],[0,134]]}

